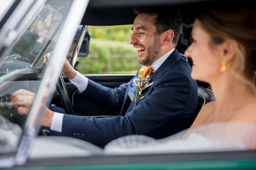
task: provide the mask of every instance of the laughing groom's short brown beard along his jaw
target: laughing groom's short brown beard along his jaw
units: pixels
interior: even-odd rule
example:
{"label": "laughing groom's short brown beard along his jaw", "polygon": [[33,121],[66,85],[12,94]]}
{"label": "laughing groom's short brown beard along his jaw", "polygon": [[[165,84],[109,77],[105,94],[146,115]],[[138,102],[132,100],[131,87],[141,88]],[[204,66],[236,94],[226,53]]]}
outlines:
{"label": "laughing groom's short brown beard along his jaw", "polygon": [[157,55],[159,54],[160,47],[160,38],[156,37],[153,44],[148,46],[145,59],[137,59],[138,63],[145,66],[151,65],[155,61]]}

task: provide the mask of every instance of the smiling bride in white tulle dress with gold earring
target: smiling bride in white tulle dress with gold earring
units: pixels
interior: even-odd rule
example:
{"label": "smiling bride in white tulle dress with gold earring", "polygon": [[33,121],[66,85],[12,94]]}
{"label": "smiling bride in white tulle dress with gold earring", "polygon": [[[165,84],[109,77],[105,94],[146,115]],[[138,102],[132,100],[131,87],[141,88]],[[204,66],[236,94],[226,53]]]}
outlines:
{"label": "smiling bride in white tulle dress with gold earring", "polygon": [[165,139],[125,136],[105,153],[144,153],[256,148],[256,12],[244,8],[198,14],[193,43],[193,79],[209,82],[215,102],[207,103],[192,126]]}

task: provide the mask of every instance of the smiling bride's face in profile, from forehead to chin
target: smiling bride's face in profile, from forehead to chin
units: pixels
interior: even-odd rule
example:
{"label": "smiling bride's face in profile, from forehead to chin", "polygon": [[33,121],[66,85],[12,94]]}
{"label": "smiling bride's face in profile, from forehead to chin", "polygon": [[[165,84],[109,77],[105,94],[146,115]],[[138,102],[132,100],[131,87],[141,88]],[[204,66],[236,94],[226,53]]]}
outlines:
{"label": "smiling bride's face in profile, from forehead to chin", "polygon": [[211,37],[198,20],[195,20],[192,37],[194,42],[185,51],[185,55],[193,60],[191,77],[209,82],[221,73],[217,48],[210,45]]}

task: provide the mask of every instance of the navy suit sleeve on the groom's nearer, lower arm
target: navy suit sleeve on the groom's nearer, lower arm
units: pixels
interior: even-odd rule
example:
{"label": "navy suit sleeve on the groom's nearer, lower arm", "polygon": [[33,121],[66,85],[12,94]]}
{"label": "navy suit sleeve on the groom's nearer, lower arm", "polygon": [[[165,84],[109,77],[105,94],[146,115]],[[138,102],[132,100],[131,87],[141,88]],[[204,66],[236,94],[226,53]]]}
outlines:
{"label": "navy suit sleeve on the groom's nearer, lower arm", "polygon": [[[123,95],[123,93],[118,94],[119,91],[110,91],[99,86],[98,89],[117,96]],[[191,91],[188,77],[181,73],[166,74],[154,83],[152,89],[153,91],[148,96],[134,103],[136,105],[134,109],[127,112],[125,116],[97,119],[66,114],[63,119],[62,132],[66,136],[83,133],[85,134],[84,140],[97,145],[105,145],[120,136],[148,135],[166,122],[183,116]]]}

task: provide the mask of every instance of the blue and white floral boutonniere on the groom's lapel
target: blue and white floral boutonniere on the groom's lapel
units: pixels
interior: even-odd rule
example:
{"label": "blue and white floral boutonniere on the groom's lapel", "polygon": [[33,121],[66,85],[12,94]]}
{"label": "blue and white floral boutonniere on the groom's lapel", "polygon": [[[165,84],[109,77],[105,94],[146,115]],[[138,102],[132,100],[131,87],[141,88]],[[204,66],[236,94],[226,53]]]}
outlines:
{"label": "blue and white floral boutonniere on the groom's lapel", "polygon": [[129,92],[128,92],[128,96],[130,97],[131,101],[137,102],[139,96],[141,95],[141,92],[153,85],[154,82],[149,82],[150,78],[146,77],[146,78],[135,78],[133,80],[133,82],[130,84],[130,86],[128,87]]}

